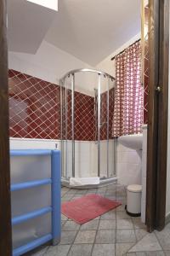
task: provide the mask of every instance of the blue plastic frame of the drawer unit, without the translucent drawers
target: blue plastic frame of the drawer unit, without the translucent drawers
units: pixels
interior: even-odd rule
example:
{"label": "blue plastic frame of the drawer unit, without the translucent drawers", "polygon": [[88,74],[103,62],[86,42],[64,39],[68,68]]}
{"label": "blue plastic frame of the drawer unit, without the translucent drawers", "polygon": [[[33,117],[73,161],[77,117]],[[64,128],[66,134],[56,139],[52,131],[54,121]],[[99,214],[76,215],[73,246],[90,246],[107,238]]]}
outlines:
{"label": "blue plastic frame of the drawer unit, without the translucent drawers", "polygon": [[[51,213],[51,232],[45,236],[38,237],[35,240],[28,242],[20,247],[14,248],[13,256],[20,256],[32,249],[41,246],[43,243],[53,241],[56,245],[60,241],[61,219],[60,219],[60,151],[59,150],[42,150],[42,149],[23,149],[10,150],[10,156],[41,156],[49,155],[51,157],[51,178],[27,181],[24,183],[12,183],[11,192],[22,189],[32,189],[38,186],[51,186],[51,206],[37,209],[36,211],[26,212],[25,214],[14,216],[12,225],[17,225],[29,221],[33,218],[38,218],[48,212]],[[41,195],[40,195],[41,196]]]}

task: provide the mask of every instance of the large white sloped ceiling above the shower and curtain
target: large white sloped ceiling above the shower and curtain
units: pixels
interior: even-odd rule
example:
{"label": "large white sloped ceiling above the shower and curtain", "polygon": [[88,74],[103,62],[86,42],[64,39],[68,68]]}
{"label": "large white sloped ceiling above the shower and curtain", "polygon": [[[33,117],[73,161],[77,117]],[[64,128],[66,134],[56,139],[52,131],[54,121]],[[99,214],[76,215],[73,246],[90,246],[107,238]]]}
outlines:
{"label": "large white sloped ceiling above the shower and curtain", "polygon": [[62,0],[46,40],[95,66],[140,31],[140,0]]}

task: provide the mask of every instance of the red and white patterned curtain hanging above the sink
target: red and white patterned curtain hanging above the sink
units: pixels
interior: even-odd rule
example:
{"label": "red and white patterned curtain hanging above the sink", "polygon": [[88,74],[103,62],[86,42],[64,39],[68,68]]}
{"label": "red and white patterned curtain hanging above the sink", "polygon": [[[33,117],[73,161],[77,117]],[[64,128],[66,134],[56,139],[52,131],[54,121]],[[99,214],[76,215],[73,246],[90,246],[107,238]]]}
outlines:
{"label": "red and white patterned curtain hanging above the sink", "polygon": [[143,125],[143,87],[141,84],[140,41],[116,55],[115,108],[112,136],[141,132]]}

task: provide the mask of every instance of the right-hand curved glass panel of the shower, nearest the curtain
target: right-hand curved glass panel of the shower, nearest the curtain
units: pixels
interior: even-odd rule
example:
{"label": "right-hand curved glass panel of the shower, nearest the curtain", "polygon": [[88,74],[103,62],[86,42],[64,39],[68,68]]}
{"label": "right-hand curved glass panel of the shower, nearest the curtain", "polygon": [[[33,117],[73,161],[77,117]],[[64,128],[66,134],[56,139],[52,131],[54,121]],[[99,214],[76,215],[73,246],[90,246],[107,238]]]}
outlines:
{"label": "right-hand curved glass panel of the shower, nearest the curtain", "polygon": [[107,76],[101,76],[100,89],[100,177],[110,178],[116,175],[116,143],[111,136],[112,117],[114,111],[114,87],[115,80]]}

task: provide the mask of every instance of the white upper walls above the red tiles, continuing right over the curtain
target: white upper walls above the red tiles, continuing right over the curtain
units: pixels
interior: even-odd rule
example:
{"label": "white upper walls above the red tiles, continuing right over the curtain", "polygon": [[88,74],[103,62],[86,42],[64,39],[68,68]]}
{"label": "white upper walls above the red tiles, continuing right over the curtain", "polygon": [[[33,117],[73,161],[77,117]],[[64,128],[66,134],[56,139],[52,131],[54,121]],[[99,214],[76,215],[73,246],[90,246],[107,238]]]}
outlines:
{"label": "white upper walls above the red tiles, continuing right over the curtain", "polygon": [[[96,67],[90,67],[87,63],[54,47],[54,45],[49,44],[45,40],[42,41],[35,55],[9,51],[8,67],[54,84],[59,84],[59,79],[65,73],[78,68],[96,68],[110,73],[115,77],[115,61],[111,61],[111,57],[118,54],[122,49],[127,48],[130,44],[133,44],[139,38],[140,34],[131,38],[126,44],[123,44],[119,49],[116,49],[115,52],[105,58],[104,61],[99,62]],[[102,92],[107,88],[106,82],[106,79],[103,79],[101,86]],[[77,91],[94,96],[94,88],[97,88],[97,84],[97,75],[94,73],[88,73],[88,75],[77,73],[76,75]]]}

